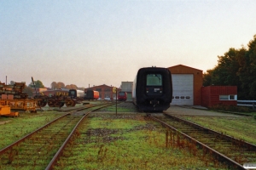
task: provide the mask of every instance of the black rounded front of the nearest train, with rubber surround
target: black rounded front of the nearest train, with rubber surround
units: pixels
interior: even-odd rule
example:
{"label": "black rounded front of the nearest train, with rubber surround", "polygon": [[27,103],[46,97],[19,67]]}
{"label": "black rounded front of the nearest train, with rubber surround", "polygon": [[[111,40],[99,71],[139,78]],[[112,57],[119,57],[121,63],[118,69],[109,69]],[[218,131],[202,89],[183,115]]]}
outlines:
{"label": "black rounded front of the nearest train, with rubber surround", "polygon": [[142,111],[166,111],[172,102],[172,76],[166,68],[142,68],[137,73],[136,104]]}

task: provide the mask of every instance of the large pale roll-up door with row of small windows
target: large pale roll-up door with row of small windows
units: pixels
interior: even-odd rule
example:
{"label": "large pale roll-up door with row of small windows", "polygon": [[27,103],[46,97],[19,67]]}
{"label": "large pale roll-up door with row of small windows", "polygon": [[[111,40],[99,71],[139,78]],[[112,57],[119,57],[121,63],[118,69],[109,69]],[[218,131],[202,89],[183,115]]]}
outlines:
{"label": "large pale roll-up door with row of small windows", "polygon": [[193,74],[172,74],[172,104],[194,105]]}

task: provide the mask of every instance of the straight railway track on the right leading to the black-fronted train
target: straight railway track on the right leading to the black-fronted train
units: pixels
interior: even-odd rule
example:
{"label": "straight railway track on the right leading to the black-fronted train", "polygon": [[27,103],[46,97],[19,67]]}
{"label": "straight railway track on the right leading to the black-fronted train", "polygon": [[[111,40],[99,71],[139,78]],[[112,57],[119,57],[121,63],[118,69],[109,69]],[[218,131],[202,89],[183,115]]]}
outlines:
{"label": "straight railway track on the right leading to the black-fronted train", "polygon": [[[256,162],[256,145],[254,144],[249,144],[243,140],[235,139],[224,133],[218,133],[169,114],[165,114],[165,117],[149,117],[183,135],[190,142],[200,146],[204,153],[210,153],[219,161],[225,162],[230,169],[245,169],[243,167],[245,163]],[[166,119],[166,117],[168,118]]]}

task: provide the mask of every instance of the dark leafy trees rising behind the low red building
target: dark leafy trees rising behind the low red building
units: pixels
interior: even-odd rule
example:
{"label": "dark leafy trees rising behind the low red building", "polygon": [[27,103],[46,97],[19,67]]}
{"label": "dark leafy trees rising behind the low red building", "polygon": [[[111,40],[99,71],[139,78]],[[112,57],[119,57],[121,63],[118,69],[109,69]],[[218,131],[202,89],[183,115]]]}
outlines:
{"label": "dark leafy trees rising behind the low red building", "polygon": [[247,48],[230,48],[218,65],[203,75],[203,85],[237,86],[239,99],[256,98],[256,35]]}

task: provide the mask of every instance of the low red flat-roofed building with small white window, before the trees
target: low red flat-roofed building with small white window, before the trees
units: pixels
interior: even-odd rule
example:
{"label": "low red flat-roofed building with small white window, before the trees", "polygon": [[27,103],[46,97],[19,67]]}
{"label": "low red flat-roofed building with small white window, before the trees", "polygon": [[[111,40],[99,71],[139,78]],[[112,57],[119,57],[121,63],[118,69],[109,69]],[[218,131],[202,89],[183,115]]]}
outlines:
{"label": "low red flat-roofed building with small white window, before the trees", "polygon": [[207,86],[201,88],[201,105],[237,105],[236,86]]}

